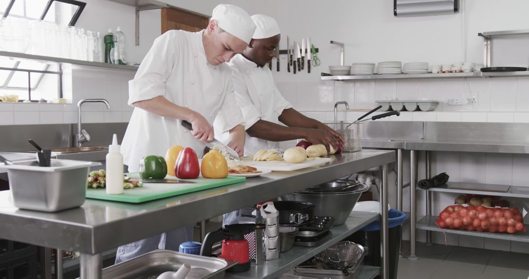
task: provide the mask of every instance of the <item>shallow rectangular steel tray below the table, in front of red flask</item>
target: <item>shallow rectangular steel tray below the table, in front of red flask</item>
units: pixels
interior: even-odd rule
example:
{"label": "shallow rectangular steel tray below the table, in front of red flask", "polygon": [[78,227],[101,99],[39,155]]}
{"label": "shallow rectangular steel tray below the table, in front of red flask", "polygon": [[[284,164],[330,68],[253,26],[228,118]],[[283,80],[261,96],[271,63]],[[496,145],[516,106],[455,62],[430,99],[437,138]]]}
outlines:
{"label": "shallow rectangular steel tray below the table, in front of red flask", "polygon": [[224,278],[227,268],[235,262],[225,259],[183,254],[167,250],[153,252],[103,269],[103,279],[156,279],[166,271],[177,271],[183,264],[191,270],[186,279]]}

